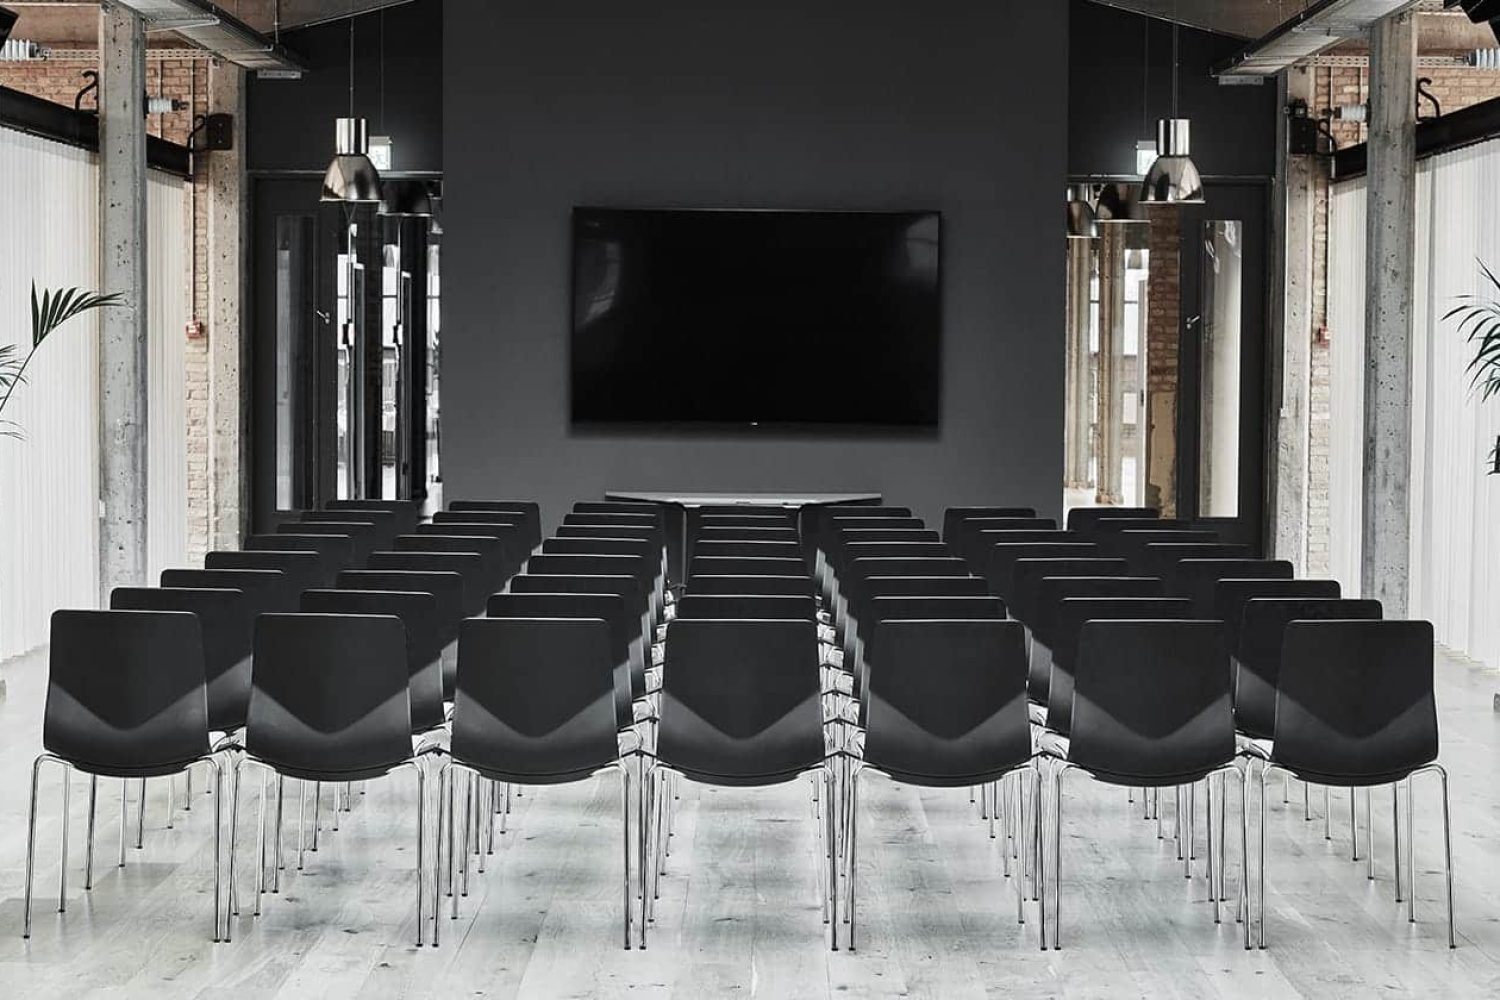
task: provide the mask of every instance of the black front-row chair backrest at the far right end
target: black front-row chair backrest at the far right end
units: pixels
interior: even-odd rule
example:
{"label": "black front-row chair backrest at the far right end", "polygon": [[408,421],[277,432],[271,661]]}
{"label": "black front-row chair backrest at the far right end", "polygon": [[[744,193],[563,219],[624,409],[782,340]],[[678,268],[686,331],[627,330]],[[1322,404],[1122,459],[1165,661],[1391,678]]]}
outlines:
{"label": "black front-row chair backrest at the far right end", "polygon": [[1430,622],[1287,625],[1275,760],[1317,784],[1394,784],[1437,760]]}

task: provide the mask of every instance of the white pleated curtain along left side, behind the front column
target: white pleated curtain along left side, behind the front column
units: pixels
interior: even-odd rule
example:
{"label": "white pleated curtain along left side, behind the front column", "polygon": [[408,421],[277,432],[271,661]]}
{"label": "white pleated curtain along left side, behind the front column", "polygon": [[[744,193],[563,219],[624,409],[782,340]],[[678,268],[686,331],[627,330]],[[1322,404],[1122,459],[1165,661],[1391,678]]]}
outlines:
{"label": "white pleated curtain along left side, behind the front column", "polygon": [[[184,184],[152,175],[150,562],[186,552],[183,325],[188,274]],[[0,127],[0,343],[30,345],[30,292],[98,288],[99,181],[93,153]],[[98,315],[38,352],[0,439],[0,660],[46,642],[60,607],[99,601]]]}

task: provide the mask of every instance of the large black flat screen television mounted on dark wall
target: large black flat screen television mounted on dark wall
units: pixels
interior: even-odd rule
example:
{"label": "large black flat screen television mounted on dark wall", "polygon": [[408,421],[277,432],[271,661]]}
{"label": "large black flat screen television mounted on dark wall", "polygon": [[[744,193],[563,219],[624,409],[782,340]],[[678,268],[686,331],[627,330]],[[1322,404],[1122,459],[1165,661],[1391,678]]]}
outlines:
{"label": "large black flat screen television mounted on dark wall", "polygon": [[576,424],[933,427],[934,211],[573,210]]}

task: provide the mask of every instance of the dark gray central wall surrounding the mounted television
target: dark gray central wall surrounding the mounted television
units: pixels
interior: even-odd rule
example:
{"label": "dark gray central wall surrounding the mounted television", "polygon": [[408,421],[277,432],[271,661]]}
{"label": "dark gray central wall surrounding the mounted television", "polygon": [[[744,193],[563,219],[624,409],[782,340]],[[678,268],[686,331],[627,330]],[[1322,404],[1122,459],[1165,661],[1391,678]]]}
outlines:
{"label": "dark gray central wall surrounding the mounted television", "polygon": [[[606,489],[1060,508],[1066,3],[450,3],[444,31],[450,499],[534,496],[548,520]],[[940,210],[940,432],[574,433],[573,205]]]}

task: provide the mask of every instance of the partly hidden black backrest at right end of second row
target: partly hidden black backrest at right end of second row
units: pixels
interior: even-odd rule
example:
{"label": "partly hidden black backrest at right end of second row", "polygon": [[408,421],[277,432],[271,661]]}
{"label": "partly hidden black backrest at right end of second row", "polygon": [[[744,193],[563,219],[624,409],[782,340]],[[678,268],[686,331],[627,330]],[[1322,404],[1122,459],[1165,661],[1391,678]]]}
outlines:
{"label": "partly hidden black backrest at right end of second row", "polygon": [[1276,688],[1287,627],[1298,621],[1377,621],[1380,601],[1256,597],[1245,601],[1234,648],[1234,724],[1258,739],[1276,729]]}

